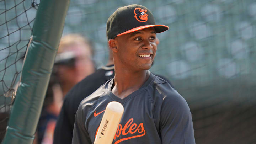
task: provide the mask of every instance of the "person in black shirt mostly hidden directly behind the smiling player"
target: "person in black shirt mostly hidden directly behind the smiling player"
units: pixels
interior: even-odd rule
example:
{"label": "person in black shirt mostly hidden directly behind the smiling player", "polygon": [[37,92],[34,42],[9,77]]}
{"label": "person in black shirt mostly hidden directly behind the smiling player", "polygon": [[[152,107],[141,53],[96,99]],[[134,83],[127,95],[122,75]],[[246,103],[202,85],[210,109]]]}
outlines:
{"label": "person in black shirt mostly hidden directly behind the smiling player", "polygon": [[[156,44],[160,41],[156,38]],[[159,75],[157,75],[159,76]],[[109,50],[108,62],[106,66],[97,69],[95,73],[87,76],[81,82],[76,84],[65,96],[64,103],[58,117],[54,130],[53,144],[71,144],[73,136],[73,128],[75,123],[75,114],[80,102],[96,91],[102,84],[114,77],[114,61],[112,51]],[[164,76],[159,76],[165,79],[172,86],[171,82]],[[173,87],[173,86],[172,86]]]}

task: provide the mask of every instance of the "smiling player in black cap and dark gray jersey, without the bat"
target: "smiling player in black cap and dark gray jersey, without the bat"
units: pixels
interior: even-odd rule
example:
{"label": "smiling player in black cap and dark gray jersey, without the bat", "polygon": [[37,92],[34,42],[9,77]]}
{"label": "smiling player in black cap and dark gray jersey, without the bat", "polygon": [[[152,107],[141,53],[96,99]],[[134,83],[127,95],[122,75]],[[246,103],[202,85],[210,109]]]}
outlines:
{"label": "smiling player in black cap and dark gray jersey, without the bat", "polygon": [[156,25],[142,5],[118,8],[107,21],[115,76],[85,98],[76,112],[73,144],[92,144],[107,104],[122,103],[124,114],[113,144],[194,144],[185,99],[168,82],[150,73],[157,44]]}

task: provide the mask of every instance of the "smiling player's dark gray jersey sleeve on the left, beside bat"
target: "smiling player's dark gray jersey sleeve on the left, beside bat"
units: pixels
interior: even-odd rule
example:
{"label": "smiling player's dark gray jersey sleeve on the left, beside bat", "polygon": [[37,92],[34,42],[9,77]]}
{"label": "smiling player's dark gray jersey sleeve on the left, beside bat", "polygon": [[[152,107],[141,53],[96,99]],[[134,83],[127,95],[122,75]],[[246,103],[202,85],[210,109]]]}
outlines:
{"label": "smiling player's dark gray jersey sleeve on the left, beside bat", "polygon": [[72,144],[92,144],[89,133],[85,128],[85,117],[81,104],[75,116]]}

